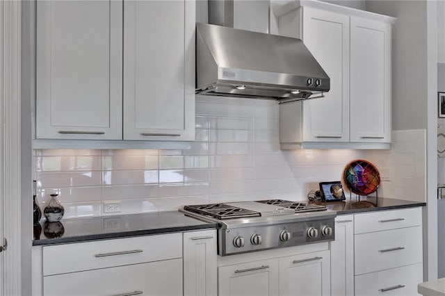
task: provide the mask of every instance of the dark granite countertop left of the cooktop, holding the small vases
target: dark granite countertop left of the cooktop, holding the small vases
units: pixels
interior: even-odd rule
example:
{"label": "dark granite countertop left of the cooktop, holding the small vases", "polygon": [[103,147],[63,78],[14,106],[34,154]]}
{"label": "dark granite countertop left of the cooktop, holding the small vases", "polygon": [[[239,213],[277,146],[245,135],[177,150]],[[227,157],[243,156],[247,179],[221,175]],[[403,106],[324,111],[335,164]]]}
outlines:
{"label": "dark granite countertop left of the cooktop, holding the small vases", "polygon": [[33,245],[53,245],[176,231],[215,229],[217,226],[217,223],[187,217],[179,211],[89,217],[52,223],[45,221],[40,226],[34,226]]}

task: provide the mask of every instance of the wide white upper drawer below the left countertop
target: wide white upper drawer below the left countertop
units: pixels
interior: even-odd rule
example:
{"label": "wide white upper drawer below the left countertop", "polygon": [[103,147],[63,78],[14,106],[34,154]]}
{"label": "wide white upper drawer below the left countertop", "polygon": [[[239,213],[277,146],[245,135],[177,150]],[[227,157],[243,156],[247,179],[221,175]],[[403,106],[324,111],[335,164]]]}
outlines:
{"label": "wide white upper drawer below the left countertop", "polygon": [[182,257],[182,233],[43,247],[43,275]]}

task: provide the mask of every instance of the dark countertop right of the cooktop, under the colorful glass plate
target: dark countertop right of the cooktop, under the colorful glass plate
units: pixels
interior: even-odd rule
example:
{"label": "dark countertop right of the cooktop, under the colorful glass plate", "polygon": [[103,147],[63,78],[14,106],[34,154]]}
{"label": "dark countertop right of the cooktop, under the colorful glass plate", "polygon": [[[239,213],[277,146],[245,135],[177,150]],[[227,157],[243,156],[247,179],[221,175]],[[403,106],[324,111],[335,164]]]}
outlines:
{"label": "dark countertop right of the cooktop, under the colorful glass plate", "polygon": [[426,206],[425,202],[410,202],[385,197],[361,197],[360,200],[355,198],[349,200],[349,198],[346,198],[343,202],[317,202],[317,204],[323,204],[323,206],[327,207],[328,211],[337,211],[337,215]]}

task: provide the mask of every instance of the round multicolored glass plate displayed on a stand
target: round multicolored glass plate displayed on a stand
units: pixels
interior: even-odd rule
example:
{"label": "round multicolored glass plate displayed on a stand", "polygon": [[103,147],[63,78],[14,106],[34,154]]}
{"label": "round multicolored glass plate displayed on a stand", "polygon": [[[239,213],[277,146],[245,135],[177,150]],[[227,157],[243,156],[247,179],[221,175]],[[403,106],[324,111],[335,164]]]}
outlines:
{"label": "round multicolored glass plate displayed on a stand", "polygon": [[357,159],[346,165],[343,181],[356,195],[370,195],[380,185],[380,173],[369,161]]}

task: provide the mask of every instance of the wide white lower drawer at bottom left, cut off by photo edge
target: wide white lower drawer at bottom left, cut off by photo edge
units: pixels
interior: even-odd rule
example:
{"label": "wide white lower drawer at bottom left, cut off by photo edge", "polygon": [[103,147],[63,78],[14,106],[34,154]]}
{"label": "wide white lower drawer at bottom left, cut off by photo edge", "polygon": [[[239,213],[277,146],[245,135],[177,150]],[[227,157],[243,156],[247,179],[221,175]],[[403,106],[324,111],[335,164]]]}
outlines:
{"label": "wide white lower drawer at bottom left, cut off by photo edge", "polygon": [[182,295],[182,259],[43,277],[43,295]]}

